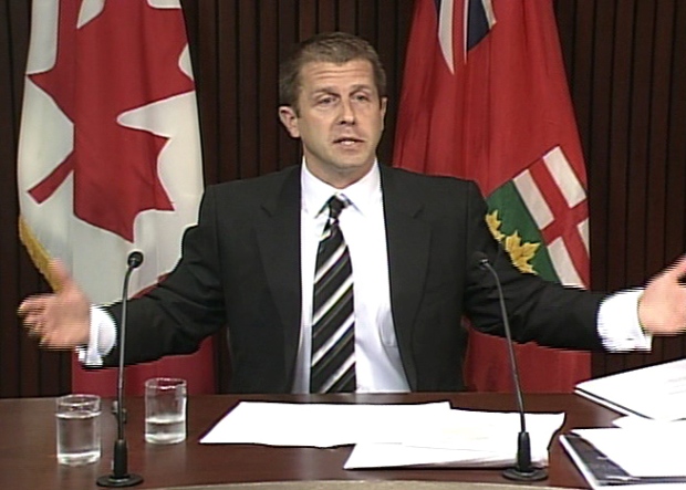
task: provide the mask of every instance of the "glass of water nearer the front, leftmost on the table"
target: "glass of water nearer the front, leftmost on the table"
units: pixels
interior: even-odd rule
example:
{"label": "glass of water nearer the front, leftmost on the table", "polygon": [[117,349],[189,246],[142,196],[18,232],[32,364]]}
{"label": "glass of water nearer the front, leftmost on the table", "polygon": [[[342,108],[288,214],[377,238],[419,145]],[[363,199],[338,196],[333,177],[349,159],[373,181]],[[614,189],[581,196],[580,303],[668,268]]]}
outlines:
{"label": "glass of water nearer the front, leftmost on the table", "polygon": [[56,399],[60,463],[80,466],[100,459],[100,413],[97,395],[65,395]]}

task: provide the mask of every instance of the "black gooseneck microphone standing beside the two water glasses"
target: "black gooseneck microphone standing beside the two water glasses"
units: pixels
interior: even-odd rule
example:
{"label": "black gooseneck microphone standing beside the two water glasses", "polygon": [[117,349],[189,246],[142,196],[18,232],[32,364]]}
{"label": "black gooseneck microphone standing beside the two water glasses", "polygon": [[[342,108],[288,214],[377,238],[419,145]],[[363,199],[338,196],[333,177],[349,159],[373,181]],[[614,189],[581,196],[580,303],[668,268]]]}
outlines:
{"label": "black gooseneck microphone standing beside the two water glasses", "polygon": [[101,487],[121,488],[133,487],[143,481],[143,477],[128,472],[128,447],[124,438],[124,346],[126,341],[126,305],[128,304],[128,281],[131,273],[143,263],[143,253],[133,251],[126,259],[126,274],[124,275],[124,290],[122,292],[122,324],[119,325],[119,365],[116,385],[116,421],[117,437],[114,441],[114,455],[112,473],[100,477],[96,482]]}

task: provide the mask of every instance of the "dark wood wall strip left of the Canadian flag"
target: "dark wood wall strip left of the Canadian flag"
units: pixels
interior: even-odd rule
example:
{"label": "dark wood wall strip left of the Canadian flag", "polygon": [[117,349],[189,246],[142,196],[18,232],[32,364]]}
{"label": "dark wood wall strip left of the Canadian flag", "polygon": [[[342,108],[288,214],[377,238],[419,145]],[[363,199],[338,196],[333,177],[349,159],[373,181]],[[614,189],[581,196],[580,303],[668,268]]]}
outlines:
{"label": "dark wood wall strip left of the Canadian flag", "polygon": [[56,394],[69,358],[39,352],[17,321],[25,294],[45,288],[17,238],[17,145],[30,3],[0,0],[0,397]]}

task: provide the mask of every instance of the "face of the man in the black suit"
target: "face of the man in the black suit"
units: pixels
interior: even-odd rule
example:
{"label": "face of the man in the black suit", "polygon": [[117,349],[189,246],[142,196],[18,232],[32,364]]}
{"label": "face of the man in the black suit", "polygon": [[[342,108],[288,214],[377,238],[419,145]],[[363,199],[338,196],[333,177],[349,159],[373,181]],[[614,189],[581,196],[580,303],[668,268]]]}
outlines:
{"label": "face of the man in the black suit", "polygon": [[306,63],[300,73],[298,107],[279,108],[281,122],[302,140],[308,168],[343,188],[374,164],[384,129],[386,98],[380,100],[372,64]]}

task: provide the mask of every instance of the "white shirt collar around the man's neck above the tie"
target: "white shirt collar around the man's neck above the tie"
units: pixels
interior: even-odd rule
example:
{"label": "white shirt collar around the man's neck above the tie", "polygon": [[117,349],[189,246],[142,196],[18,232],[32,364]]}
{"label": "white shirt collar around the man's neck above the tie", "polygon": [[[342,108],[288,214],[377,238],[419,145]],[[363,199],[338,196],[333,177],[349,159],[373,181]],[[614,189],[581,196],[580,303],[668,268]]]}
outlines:
{"label": "white shirt collar around the man's neck above the tie", "polygon": [[334,195],[344,195],[351,206],[362,215],[368,213],[371,207],[381,202],[381,173],[378,161],[375,160],[370,171],[356,183],[336,189],[316,178],[302,161],[300,181],[302,188],[302,208],[312,217],[316,217],[326,206],[326,201]]}

